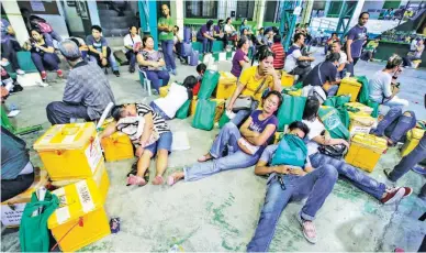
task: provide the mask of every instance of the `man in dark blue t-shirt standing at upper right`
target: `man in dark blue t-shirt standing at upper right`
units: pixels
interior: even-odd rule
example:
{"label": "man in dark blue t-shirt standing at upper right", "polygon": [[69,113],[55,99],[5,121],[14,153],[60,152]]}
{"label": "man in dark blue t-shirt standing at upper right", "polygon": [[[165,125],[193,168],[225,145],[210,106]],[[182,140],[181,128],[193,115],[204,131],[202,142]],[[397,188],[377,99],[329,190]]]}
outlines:
{"label": "man in dark blue t-shirt standing at upper right", "polygon": [[348,32],[348,40],[346,42],[346,54],[348,55],[348,72],[354,76],[354,67],[359,57],[361,57],[362,45],[367,42],[367,28],[370,14],[361,12],[358,18],[358,24],[351,28]]}

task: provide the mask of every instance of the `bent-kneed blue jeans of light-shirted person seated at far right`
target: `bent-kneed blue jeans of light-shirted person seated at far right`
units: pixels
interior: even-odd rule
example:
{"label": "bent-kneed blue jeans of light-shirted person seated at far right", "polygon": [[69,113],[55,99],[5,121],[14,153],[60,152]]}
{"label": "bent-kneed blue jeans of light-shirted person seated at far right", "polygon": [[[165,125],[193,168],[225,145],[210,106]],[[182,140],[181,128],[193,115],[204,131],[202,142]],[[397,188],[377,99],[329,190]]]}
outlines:
{"label": "bent-kneed blue jeans of light-shirted person seated at far right", "polygon": [[390,138],[393,143],[401,141],[408,130],[416,127],[417,121],[413,111],[406,112],[410,113],[411,117],[404,116],[402,109],[399,107],[391,108],[383,120],[380,121],[378,128],[371,130],[371,133],[378,136],[383,136],[384,134]]}

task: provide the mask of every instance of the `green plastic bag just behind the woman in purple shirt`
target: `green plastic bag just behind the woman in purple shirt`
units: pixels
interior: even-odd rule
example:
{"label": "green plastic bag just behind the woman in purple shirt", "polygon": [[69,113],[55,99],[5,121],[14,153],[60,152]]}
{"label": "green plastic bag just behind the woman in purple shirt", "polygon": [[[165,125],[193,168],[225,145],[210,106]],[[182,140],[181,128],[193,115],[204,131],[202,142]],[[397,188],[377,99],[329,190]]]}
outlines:
{"label": "green plastic bag just behind the woman in purple shirt", "polygon": [[290,124],[296,120],[302,120],[303,110],[305,108],[305,97],[293,97],[283,95],[283,100],[278,110],[278,131],[284,130],[285,124]]}

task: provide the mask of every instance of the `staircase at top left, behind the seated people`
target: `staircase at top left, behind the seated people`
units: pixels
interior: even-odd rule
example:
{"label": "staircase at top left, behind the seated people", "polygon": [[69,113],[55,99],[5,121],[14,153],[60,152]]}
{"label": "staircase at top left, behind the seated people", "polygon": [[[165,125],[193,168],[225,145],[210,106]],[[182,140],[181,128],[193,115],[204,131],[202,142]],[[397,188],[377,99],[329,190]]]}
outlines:
{"label": "staircase at top left, behind the seated people", "polygon": [[137,23],[128,6],[124,11],[124,16],[119,16],[116,11],[110,10],[109,4],[102,1],[98,1],[98,11],[104,37],[124,37],[128,33],[128,26]]}

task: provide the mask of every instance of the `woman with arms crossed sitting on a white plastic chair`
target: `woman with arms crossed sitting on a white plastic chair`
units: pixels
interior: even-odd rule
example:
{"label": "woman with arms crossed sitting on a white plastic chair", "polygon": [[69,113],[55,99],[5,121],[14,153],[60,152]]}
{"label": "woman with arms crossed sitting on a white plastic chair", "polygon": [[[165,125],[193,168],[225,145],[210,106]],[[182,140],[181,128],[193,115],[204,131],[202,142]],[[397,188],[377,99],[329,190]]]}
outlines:
{"label": "woman with arms crossed sitting on a white plastic chair", "polygon": [[[161,86],[167,86],[170,80],[170,75],[166,66],[162,53],[154,50],[154,38],[146,35],[142,38],[143,50],[137,54],[137,63],[141,70],[146,73],[146,77],[150,80],[157,92]],[[162,80],[162,82],[161,82]]]}

